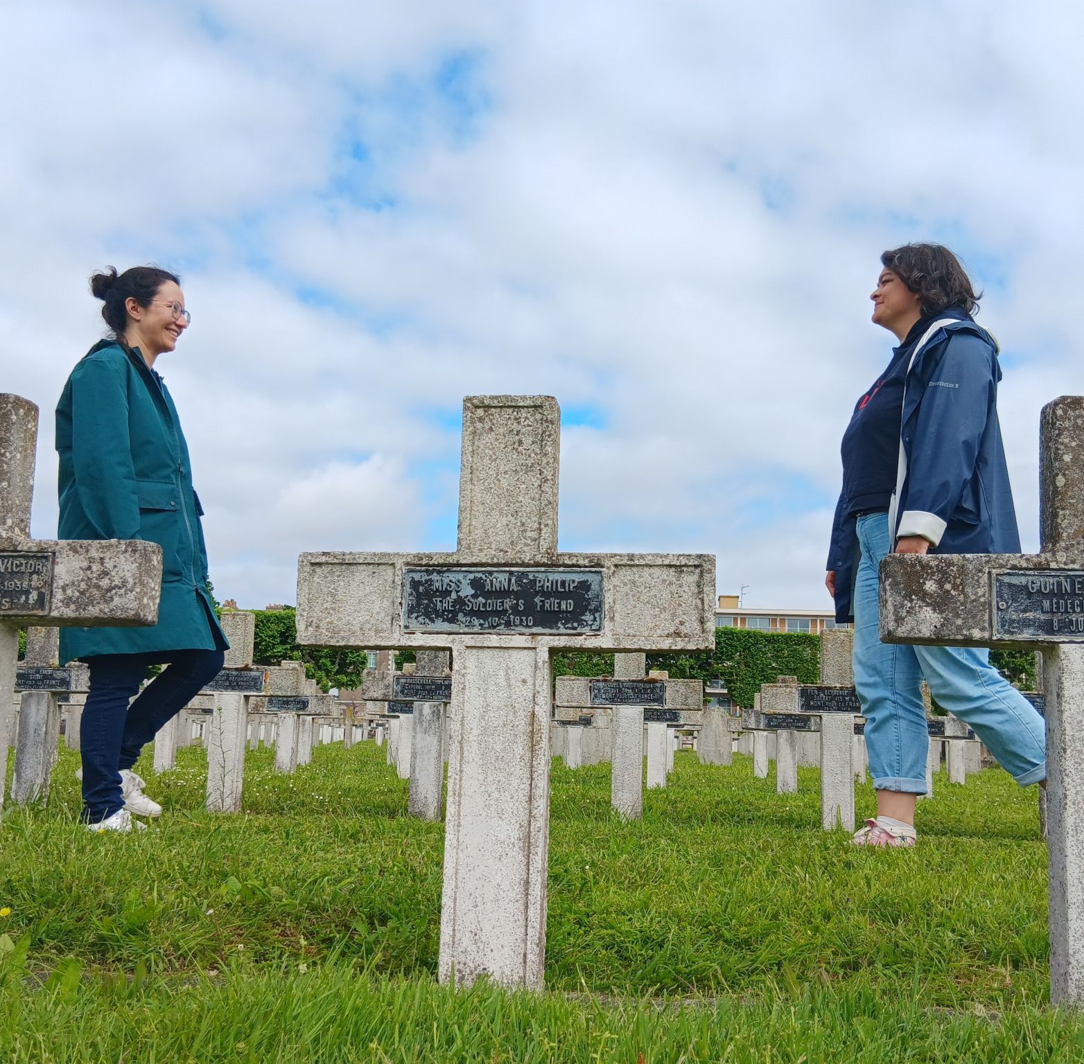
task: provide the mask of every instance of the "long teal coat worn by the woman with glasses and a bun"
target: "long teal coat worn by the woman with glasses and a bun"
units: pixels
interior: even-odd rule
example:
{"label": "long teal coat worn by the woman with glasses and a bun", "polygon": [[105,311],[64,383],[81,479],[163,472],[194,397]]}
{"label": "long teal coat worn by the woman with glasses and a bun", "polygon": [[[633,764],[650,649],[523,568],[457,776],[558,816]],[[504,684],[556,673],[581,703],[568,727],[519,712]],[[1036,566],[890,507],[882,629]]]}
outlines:
{"label": "long teal coat worn by the woman with glasses and a bun", "polygon": [[203,508],[166,386],[139,348],[95,343],[56,405],[61,540],[149,540],[162,547],[152,627],[61,628],[61,661],[94,654],[225,649],[207,593]]}

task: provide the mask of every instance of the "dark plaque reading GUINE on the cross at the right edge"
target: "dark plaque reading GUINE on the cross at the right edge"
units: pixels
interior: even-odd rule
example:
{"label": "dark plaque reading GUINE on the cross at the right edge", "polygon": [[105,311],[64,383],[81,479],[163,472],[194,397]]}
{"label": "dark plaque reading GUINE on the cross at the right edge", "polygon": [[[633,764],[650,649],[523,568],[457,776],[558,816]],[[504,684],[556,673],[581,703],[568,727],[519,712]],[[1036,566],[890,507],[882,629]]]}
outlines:
{"label": "dark plaque reading GUINE on the cross at the right edge", "polygon": [[994,638],[1084,643],[1084,572],[995,572]]}

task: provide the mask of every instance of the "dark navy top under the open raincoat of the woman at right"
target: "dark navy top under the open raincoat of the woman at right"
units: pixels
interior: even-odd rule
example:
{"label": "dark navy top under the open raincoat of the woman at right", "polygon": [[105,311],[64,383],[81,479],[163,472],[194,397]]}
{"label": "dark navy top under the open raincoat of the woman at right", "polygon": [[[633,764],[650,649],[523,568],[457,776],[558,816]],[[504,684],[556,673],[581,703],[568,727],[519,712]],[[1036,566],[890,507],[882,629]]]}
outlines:
{"label": "dark navy top under the open raincoat of the woman at right", "polygon": [[885,372],[854,406],[840,444],[846,514],[888,509],[900,463],[903,381],[915,345],[931,324],[932,319],[921,317],[912,326],[903,343],[892,349]]}

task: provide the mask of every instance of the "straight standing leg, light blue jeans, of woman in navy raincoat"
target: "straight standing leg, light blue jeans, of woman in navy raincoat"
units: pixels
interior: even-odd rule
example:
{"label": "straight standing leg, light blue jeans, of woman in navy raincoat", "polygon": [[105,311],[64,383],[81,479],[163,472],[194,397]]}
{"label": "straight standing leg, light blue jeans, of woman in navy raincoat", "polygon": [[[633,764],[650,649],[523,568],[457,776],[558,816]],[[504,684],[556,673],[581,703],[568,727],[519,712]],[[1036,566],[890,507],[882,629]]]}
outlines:
{"label": "straight standing leg, light blue jeans, of woman in navy raincoat", "polygon": [[881,643],[878,634],[878,570],[888,554],[888,539],[887,514],[860,518],[854,687],[866,717],[866,749],[878,814],[914,823],[916,796],[926,793],[930,741],[915,650]]}

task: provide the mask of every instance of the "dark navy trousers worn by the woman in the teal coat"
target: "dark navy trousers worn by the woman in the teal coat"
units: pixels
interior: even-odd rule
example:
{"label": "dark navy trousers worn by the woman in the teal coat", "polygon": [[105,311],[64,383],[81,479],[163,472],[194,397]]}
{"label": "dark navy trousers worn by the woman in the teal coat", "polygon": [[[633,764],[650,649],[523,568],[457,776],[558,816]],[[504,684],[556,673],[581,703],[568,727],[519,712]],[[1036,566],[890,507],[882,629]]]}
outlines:
{"label": "dark navy trousers worn by the woman in the teal coat", "polygon": [[[175,650],[140,654],[95,654],[90,691],[82,708],[82,818],[98,823],[125,805],[120,769],[131,768],[158,729],[192,701],[225,661],[221,650]],[[129,706],[146,666],[166,663]]]}

